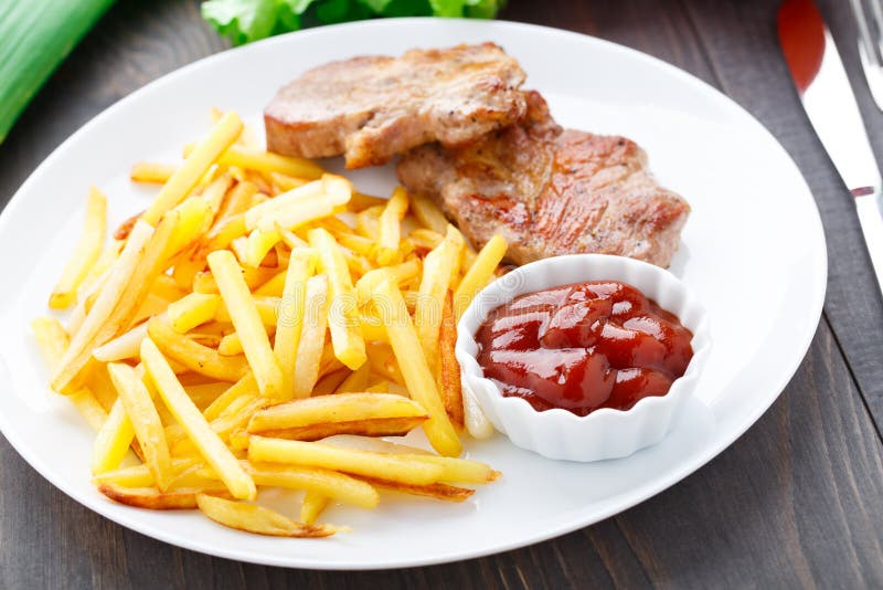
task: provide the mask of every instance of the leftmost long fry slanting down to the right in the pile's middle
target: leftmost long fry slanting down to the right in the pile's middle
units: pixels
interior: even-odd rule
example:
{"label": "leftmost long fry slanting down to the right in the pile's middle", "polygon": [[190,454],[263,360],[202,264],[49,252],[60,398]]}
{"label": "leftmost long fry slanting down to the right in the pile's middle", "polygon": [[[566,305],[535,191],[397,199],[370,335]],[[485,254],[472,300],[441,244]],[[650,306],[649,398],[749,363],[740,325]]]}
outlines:
{"label": "leftmost long fry slanting down to the right in the pile's middle", "polygon": [[212,252],[206,260],[236,334],[240,335],[245,358],[252,367],[260,394],[265,398],[279,398],[283,393],[283,372],[240,265],[233,254],[225,250]]}

